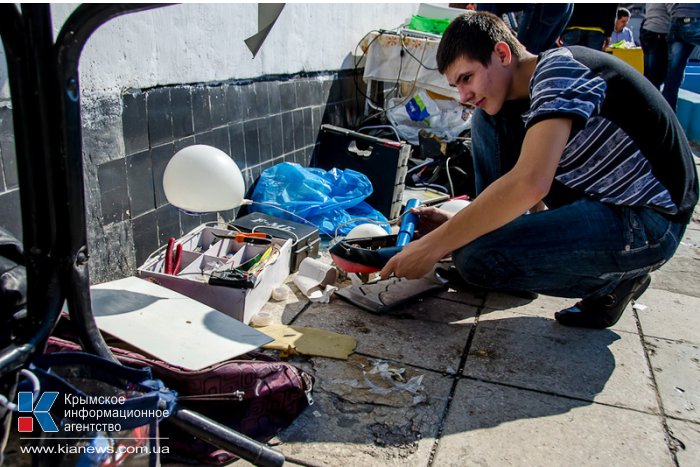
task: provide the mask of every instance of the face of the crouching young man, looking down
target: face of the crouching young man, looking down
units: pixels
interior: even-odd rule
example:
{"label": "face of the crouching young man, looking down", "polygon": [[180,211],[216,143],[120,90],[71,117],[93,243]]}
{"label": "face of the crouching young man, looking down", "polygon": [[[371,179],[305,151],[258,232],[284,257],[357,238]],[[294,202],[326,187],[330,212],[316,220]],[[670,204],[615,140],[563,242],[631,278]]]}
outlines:
{"label": "face of the crouching young man, looking down", "polygon": [[457,88],[462,104],[479,107],[489,115],[501,110],[510,88],[510,70],[496,52],[488,66],[459,57],[447,67],[445,77],[450,86]]}

